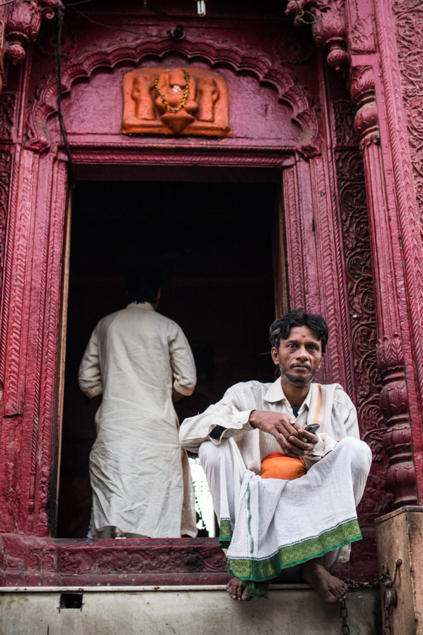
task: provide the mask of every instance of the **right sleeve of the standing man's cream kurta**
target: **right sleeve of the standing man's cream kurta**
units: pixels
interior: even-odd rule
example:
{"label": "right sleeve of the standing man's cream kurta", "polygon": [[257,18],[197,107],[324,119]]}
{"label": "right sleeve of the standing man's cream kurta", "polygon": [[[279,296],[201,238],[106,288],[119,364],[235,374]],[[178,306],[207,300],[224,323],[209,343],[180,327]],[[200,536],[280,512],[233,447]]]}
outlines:
{"label": "right sleeve of the standing man's cream kurta", "polygon": [[176,325],[168,345],[173,372],[173,389],[182,395],[191,395],[197,383],[196,365],[188,340]]}

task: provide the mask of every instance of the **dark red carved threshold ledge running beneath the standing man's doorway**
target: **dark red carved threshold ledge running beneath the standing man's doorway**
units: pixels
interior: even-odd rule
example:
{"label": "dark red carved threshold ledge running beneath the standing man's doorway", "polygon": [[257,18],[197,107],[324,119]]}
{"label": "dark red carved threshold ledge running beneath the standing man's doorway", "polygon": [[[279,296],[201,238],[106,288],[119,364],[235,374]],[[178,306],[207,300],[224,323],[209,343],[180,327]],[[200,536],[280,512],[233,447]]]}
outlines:
{"label": "dark red carved threshold ledge running beneath the standing man's doorway", "polygon": [[192,540],[53,540],[1,535],[0,580],[6,585],[225,584],[217,538]]}

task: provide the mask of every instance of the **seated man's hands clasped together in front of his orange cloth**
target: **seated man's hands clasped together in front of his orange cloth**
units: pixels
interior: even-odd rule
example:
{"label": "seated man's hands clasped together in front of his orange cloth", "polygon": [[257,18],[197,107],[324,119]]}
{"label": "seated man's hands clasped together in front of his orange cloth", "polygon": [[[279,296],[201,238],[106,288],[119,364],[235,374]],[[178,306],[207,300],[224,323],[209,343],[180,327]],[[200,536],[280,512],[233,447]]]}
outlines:
{"label": "seated man's hands clasped together in front of his orange cloth", "polygon": [[268,410],[253,410],[248,419],[253,428],[268,432],[281,446],[281,450],[288,457],[302,457],[311,454],[318,443],[317,434],[305,432],[304,429],[292,422],[289,415]]}

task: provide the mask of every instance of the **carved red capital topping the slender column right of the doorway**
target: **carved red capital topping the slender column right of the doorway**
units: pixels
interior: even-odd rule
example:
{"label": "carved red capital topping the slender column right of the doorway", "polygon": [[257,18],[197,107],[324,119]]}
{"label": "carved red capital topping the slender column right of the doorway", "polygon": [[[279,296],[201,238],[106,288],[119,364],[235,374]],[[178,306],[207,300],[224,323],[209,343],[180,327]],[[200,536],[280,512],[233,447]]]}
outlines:
{"label": "carved red capital topping the slender column right of the doorway", "polygon": [[379,143],[379,117],[375,100],[375,79],[371,66],[354,67],[350,78],[351,97],[357,104],[354,131],[360,147]]}

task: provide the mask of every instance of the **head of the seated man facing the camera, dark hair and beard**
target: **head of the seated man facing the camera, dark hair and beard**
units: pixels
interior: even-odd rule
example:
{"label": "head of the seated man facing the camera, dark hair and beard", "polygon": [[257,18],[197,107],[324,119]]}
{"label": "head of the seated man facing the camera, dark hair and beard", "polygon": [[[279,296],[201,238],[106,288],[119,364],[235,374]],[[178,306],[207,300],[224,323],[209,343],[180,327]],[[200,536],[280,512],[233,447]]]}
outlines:
{"label": "head of the seated man facing the camera, dark hair and beard", "polygon": [[318,315],[290,311],[272,324],[269,337],[274,364],[279,366],[281,382],[290,387],[305,387],[325,358],[328,325]]}

